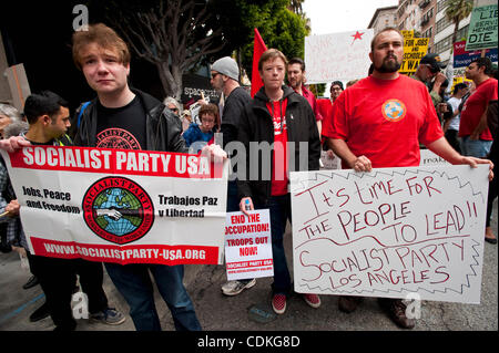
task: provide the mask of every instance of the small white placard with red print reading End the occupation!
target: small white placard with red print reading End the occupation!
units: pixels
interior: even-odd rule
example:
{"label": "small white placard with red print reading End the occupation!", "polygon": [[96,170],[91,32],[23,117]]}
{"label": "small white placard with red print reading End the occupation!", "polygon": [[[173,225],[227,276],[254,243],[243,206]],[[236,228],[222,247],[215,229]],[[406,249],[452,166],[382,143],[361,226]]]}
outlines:
{"label": "small white placard with red print reading End the occupation!", "polygon": [[274,276],[268,209],[227,212],[225,262],[227,280]]}

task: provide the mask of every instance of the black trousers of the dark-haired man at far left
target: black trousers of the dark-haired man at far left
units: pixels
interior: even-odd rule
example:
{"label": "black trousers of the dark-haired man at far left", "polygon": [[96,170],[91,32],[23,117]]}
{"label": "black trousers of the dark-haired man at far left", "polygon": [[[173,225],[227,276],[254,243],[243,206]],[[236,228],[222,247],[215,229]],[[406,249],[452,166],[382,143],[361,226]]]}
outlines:
{"label": "black trousers of the dark-haired man at far left", "polygon": [[89,312],[96,313],[108,308],[108,298],[102,289],[101,262],[82,259],[57,259],[28,255],[33,274],[40,281],[53,323],[59,330],[74,330],[77,322],[71,310],[77,274],[82,291],[89,298]]}

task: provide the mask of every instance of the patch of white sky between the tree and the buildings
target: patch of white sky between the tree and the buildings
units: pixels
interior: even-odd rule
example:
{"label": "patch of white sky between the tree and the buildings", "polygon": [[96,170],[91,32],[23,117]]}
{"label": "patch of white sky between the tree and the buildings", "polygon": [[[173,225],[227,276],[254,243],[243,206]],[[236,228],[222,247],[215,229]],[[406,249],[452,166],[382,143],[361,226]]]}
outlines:
{"label": "patch of white sky between the tree and the buildings", "polygon": [[312,34],[365,30],[378,8],[398,6],[398,0],[305,0]]}

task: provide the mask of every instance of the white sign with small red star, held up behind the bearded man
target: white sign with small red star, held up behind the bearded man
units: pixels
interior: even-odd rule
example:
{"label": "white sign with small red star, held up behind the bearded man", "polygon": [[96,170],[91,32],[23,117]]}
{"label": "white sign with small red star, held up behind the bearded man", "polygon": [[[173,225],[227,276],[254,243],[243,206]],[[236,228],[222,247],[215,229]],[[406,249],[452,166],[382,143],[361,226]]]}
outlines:
{"label": "white sign with small red star, held up behind the bearded man", "polygon": [[305,38],[307,84],[367,76],[373,29]]}

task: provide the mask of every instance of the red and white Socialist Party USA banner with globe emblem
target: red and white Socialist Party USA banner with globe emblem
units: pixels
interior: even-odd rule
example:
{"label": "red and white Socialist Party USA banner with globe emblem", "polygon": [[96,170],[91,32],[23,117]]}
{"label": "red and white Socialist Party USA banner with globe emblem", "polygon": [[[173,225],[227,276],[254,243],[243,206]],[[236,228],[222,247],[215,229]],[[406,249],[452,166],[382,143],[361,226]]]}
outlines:
{"label": "red and white Socialist Party USA banner with globe emblem", "polygon": [[2,156],[34,255],[222,263],[226,164],[202,155],[55,146]]}

